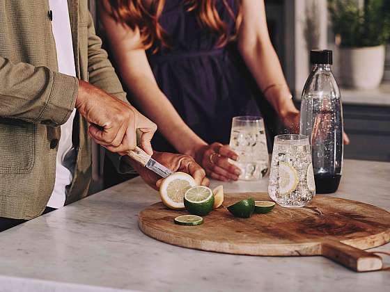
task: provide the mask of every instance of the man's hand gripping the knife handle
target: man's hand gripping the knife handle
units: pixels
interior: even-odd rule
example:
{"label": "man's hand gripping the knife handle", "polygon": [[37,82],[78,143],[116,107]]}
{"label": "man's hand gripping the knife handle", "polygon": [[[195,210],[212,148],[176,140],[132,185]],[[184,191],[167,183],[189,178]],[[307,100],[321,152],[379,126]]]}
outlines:
{"label": "man's hand gripping the knife handle", "polygon": [[136,130],[139,129],[140,146],[146,153],[153,154],[150,140],[157,126],[130,104],[90,83],[79,81],[76,108],[92,124],[88,133],[93,140],[109,151],[125,155],[134,149],[137,146]]}

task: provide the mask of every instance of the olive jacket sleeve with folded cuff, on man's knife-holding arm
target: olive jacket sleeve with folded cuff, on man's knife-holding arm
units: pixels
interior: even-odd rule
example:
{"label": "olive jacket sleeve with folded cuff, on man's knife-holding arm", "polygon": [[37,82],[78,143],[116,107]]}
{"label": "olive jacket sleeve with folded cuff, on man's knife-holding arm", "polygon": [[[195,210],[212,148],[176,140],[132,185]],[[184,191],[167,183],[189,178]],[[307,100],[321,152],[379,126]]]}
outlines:
{"label": "olive jacket sleeve with folded cuff, on man's knife-holding arm", "polygon": [[0,117],[59,126],[75,108],[78,81],[0,56]]}

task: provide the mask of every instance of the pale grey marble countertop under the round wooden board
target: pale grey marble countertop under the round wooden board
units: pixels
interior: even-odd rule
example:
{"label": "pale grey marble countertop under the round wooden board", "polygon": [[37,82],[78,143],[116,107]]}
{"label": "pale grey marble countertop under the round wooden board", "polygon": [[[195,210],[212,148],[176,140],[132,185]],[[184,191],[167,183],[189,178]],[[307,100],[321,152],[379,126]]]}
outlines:
{"label": "pale grey marble countertop under the round wooden board", "polygon": [[[390,163],[346,160],[335,196],[389,211],[389,174]],[[267,180],[224,188],[266,191]],[[217,254],[155,241],[139,231],[137,215],[158,200],[132,179],[1,232],[0,291],[390,291],[389,272],[354,273],[324,257]]]}

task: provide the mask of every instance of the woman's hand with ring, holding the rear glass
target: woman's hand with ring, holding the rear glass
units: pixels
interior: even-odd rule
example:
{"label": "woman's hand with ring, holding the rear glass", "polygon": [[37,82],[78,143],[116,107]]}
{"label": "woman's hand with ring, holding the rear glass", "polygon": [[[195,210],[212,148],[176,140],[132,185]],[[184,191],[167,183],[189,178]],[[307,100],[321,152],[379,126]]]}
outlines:
{"label": "woman's hand with ring, holding the rear glass", "polygon": [[212,143],[196,152],[196,161],[205,169],[208,177],[219,181],[236,181],[241,174],[240,168],[229,163],[228,159],[237,160],[238,155],[228,145]]}

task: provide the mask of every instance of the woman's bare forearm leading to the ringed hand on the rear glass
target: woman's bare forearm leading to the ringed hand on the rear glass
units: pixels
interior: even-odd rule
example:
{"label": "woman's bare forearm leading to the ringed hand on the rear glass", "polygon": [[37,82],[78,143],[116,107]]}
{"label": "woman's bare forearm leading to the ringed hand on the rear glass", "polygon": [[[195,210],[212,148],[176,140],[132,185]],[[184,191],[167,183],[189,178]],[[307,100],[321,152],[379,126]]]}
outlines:
{"label": "woman's bare forearm leading to the ringed hand on the rear glass", "polygon": [[128,87],[132,102],[157,124],[159,131],[178,152],[194,156],[200,147],[207,145],[185,124],[154,80],[143,74],[127,74],[125,83],[131,85]]}

